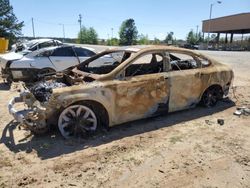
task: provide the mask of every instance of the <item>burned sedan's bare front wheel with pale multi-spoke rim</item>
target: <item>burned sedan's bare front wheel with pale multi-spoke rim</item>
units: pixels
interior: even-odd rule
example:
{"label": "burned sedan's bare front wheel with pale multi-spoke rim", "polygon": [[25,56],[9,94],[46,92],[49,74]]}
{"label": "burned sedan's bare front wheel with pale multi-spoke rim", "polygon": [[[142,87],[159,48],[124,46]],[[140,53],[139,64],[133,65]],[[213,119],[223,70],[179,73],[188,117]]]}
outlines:
{"label": "burned sedan's bare front wheel with pale multi-spoke rim", "polygon": [[98,115],[91,105],[75,104],[62,111],[58,128],[67,139],[95,132],[98,129]]}

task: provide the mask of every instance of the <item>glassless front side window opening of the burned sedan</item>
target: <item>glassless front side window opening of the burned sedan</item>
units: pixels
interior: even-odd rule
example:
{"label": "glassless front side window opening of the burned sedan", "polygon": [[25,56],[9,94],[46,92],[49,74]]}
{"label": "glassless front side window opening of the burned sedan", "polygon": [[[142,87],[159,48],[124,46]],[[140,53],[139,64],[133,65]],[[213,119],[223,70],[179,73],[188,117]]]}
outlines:
{"label": "glassless front side window opening of the burned sedan", "polygon": [[126,68],[125,77],[163,72],[163,59],[161,53],[145,54]]}

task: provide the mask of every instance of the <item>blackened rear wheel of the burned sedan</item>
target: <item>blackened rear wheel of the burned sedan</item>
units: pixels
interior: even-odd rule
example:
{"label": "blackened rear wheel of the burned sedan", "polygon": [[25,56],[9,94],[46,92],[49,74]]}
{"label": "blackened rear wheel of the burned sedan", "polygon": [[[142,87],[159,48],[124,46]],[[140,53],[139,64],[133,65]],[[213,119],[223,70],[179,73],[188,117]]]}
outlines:
{"label": "blackened rear wheel of the burned sedan", "polygon": [[205,107],[213,107],[218,100],[223,97],[223,92],[220,86],[209,87],[202,95],[201,104]]}

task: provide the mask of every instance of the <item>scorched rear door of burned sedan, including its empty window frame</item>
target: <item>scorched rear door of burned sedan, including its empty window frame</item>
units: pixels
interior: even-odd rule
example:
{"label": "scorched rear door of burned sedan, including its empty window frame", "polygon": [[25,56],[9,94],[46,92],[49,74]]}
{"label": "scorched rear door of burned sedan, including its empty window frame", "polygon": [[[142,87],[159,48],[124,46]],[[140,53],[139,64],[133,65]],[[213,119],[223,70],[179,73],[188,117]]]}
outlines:
{"label": "scorched rear door of burned sedan, including its empty window frame", "polygon": [[[170,98],[169,112],[194,107],[202,91],[200,65],[193,57],[183,53],[170,56]],[[178,57],[176,60],[175,57]]]}

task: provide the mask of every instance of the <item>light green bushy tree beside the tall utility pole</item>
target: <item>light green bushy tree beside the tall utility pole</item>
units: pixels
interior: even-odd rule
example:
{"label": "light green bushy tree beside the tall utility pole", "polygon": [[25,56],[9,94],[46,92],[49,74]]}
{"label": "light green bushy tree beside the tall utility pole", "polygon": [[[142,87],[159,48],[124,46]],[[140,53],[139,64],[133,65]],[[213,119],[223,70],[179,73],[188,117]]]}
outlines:
{"label": "light green bushy tree beside the tall utility pole", "polygon": [[78,42],[80,44],[97,44],[98,34],[93,27],[82,27],[81,31],[78,33]]}

